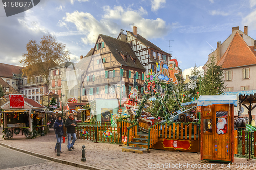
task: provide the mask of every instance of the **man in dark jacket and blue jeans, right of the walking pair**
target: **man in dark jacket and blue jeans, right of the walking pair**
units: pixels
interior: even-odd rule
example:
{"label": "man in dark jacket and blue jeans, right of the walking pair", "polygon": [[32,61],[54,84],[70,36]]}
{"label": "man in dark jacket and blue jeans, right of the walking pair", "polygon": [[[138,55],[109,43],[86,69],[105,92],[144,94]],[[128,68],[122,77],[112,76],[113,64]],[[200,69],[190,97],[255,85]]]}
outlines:
{"label": "man in dark jacket and blue jeans, right of the walking pair", "polygon": [[[68,151],[74,150],[74,144],[76,141],[76,120],[73,117],[73,114],[70,113],[68,119],[65,121],[65,127],[67,128],[67,135],[68,135]],[[72,143],[70,144],[71,136],[73,137]],[[72,149],[71,149],[72,148]]]}

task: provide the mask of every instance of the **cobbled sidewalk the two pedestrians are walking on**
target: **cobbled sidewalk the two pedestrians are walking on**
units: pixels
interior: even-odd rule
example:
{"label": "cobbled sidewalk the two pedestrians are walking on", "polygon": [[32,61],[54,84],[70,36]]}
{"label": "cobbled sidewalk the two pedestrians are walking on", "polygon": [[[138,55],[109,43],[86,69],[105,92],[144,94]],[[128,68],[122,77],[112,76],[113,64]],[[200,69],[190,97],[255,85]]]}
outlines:
{"label": "cobbled sidewalk the two pedestrians are walking on", "polygon": [[[67,162],[82,164],[99,169],[187,169],[189,168],[189,165],[189,169],[197,169],[196,167],[199,165],[201,166],[200,169],[221,169],[219,162],[201,163],[200,154],[197,153],[151,149],[150,153],[145,152],[143,154],[136,154],[122,152],[122,147],[119,147],[119,145],[116,144],[93,143],[91,141],[80,139],[77,139],[74,145],[75,150],[72,151],[67,150],[66,139],[65,144],[62,143],[61,150],[63,153],[61,153],[61,156],[57,157],[56,153],[54,152],[56,137],[53,130],[50,130],[49,134],[35,139],[3,140],[2,135],[2,128],[0,128],[0,144],[9,145],[11,147],[37,153],[39,155],[45,155],[55,159],[61,159]],[[81,161],[82,145],[86,146],[86,162]],[[236,163],[246,163],[247,166],[249,166],[248,163],[256,163],[256,160],[247,161],[246,159],[242,158],[234,158],[234,164]],[[160,168],[161,164],[164,164],[165,168],[163,165],[162,168]],[[174,168],[172,168],[172,165]],[[227,165],[228,164],[225,164],[223,169],[232,169],[232,165],[230,168],[228,168]],[[251,166],[253,166],[253,164],[251,164]],[[243,166],[238,169],[248,169],[248,167],[245,168]],[[256,165],[254,165],[253,168],[250,167],[250,169],[256,169]]]}

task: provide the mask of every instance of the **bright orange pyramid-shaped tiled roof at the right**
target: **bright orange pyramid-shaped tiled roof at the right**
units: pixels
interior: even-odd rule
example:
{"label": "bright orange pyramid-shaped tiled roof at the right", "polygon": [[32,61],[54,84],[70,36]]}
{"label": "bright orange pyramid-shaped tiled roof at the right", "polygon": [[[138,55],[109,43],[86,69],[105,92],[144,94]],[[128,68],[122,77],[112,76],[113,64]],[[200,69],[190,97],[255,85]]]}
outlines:
{"label": "bright orange pyramid-shaped tiled roof at the right", "polygon": [[254,50],[252,51],[237,32],[229,44],[227,51],[217,62],[217,65],[222,66],[222,68],[232,68],[251,64],[256,64]]}

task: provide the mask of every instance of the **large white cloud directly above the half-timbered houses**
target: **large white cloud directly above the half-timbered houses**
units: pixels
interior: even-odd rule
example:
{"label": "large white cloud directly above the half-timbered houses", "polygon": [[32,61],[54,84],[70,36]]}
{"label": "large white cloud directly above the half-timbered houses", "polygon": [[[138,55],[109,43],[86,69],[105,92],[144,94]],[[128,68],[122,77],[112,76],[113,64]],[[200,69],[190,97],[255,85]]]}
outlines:
{"label": "large white cloud directly above the half-timbered houses", "polygon": [[[82,38],[84,44],[94,43],[98,34],[113,36],[119,34],[119,30],[134,23],[137,26],[137,31],[145,38],[160,38],[166,35],[170,30],[170,25],[161,18],[145,19],[142,16],[147,15],[147,11],[140,7],[138,10],[133,10],[130,7],[124,9],[121,6],[115,6],[111,9],[109,6],[104,6],[100,20],[97,20],[93,15],[86,12],[75,11],[66,13],[63,21],[59,21],[61,27],[68,27],[67,23],[74,23],[80,34],[86,35]],[[95,35],[95,37],[94,37]]]}

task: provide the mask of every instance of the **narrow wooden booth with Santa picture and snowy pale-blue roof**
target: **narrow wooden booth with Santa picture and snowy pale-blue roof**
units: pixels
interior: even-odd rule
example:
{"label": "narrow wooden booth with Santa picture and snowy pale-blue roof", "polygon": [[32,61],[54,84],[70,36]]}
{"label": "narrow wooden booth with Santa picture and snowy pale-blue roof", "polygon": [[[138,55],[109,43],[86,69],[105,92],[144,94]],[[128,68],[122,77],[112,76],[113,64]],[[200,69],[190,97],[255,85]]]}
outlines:
{"label": "narrow wooden booth with Santa picture and snowy pale-blue roof", "polygon": [[201,160],[234,162],[236,95],[200,96]]}

